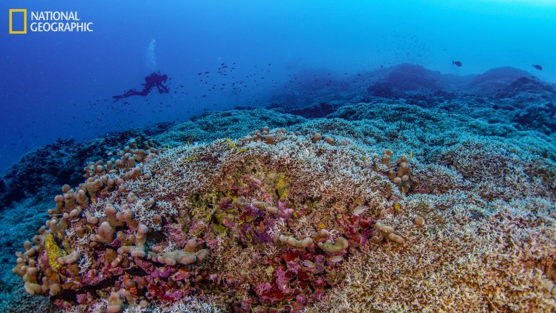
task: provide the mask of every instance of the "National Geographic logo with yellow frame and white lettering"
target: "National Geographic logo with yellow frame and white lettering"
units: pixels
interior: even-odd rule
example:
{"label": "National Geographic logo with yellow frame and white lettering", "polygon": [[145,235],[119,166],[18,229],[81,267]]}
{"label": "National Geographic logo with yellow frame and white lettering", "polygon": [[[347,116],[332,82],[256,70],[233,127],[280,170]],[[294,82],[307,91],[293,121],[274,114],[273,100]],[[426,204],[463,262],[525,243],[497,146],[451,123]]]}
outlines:
{"label": "National Geographic logo with yellow frame and white lettering", "polygon": [[[92,22],[82,22],[77,11],[31,11],[27,23],[27,9],[10,9],[10,33],[86,33],[92,32]],[[28,26],[28,27],[27,27]]]}

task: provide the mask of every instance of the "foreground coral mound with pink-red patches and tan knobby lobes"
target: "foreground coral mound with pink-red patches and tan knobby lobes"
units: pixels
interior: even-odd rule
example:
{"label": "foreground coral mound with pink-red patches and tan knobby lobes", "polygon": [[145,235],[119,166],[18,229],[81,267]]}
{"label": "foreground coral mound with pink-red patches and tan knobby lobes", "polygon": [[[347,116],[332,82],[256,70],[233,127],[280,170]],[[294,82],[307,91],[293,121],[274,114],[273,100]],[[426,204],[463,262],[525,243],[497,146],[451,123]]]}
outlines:
{"label": "foreground coral mound with pink-red patches and tan knobby lobes", "polygon": [[201,296],[228,310],[297,312],[345,278],[338,264],[373,224],[404,243],[376,219],[411,185],[408,157],[392,157],[268,127],[173,149],[136,138],[120,159],[89,163],[76,189],[62,187],[13,271],[65,309]]}

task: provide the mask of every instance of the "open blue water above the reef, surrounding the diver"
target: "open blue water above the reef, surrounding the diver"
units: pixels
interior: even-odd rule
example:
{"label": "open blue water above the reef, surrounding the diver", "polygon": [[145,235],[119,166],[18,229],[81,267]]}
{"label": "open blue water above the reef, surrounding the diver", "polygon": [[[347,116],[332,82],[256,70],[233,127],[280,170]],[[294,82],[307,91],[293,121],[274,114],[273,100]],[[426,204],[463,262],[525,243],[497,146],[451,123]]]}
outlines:
{"label": "open blue water above the reef, surrounding the diver", "polygon": [[[556,81],[555,2],[1,1],[0,170],[56,138],[261,104],[302,69],[355,73],[409,62],[471,74],[540,64],[535,74]],[[9,8],[78,11],[94,32],[9,35]],[[112,95],[139,88],[152,72],[153,39],[172,93],[113,104]],[[218,75],[221,63],[236,69]],[[245,81],[240,92],[234,81]]]}

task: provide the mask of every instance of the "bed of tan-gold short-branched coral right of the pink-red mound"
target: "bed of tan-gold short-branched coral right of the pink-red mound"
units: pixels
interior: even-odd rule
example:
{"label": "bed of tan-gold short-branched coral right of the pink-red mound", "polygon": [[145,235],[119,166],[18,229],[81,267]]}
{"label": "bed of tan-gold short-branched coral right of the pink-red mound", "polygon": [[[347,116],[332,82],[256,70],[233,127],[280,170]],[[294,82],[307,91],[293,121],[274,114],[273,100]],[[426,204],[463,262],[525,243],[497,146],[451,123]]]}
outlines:
{"label": "bed of tan-gold short-branched coral right of the pink-red mound", "polygon": [[[553,312],[554,209],[539,198],[415,196],[403,216],[386,218],[411,244],[371,238],[345,264],[341,287],[307,312]],[[414,214],[427,224],[409,223]]]}

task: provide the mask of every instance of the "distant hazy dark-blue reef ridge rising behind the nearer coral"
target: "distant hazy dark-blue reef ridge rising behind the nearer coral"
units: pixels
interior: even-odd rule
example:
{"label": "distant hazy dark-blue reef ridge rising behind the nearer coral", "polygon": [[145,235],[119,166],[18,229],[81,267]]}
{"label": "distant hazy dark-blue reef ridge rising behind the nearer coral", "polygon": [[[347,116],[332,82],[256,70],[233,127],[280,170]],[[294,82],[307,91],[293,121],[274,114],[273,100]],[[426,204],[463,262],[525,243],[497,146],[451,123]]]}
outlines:
{"label": "distant hazy dark-blue reef ridge rising behind the nearer coral", "polygon": [[[270,108],[306,118],[334,115],[353,104],[382,104],[394,100],[422,108],[435,108],[472,118],[511,123],[544,134],[556,130],[554,84],[513,67],[498,67],[482,74],[456,77],[414,64],[400,64],[318,83],[286,83],[283,94],[272,97]],[[331,112],[331,109],[334,111]]]}

